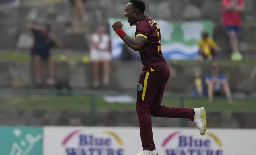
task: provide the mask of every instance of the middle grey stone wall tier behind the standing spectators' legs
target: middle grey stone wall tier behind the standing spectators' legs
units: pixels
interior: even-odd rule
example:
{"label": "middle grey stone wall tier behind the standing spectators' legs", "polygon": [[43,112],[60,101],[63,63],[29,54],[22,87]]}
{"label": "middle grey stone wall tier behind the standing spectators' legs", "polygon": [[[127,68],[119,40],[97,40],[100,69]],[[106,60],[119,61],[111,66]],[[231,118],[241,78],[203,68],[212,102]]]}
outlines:
{"label": "middle grey stone wall tier behind the standing spectators' legs", "polygon": [[[171,77],[166,90],[173,93],[192,93],[196,70],[202,72],[204,78],[210,72],[210,64],[170,63]],[[201,66],[201,67],[198,67]],[[110,85],[102,88],[117,90],[134,90],[142,70],[140,61],[111,62]],[[43,77],[47,78],[47,66],[43,67]],[[220,66],[220,73],[229,81],[231,91],[256,92],[256,66],[249,64],[233,64]],[[57,81],[68,81],[73,88],[92,88],[92,64],[67,62],[56,63]],[[0,62],[0,87],[31,87],[33,76],[29,62]],[[47,87],[47,86],[46,86]]]}

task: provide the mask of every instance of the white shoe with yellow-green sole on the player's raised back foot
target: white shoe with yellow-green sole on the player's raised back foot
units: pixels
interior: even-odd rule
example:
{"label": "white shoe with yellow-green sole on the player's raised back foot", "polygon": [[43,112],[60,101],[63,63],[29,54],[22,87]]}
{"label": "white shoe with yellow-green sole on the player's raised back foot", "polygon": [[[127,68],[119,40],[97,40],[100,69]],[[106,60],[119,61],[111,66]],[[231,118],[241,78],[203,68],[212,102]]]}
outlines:
{"label": "white shoe with yellow-green sole on the player's raised back foot", "polygon": [[199,129],[201,135],[206,133],[207,123],[206,123],[206,110],[204,107],[195,108],[194,109],[195,116],[194,122],[196,123],[196,127]]}

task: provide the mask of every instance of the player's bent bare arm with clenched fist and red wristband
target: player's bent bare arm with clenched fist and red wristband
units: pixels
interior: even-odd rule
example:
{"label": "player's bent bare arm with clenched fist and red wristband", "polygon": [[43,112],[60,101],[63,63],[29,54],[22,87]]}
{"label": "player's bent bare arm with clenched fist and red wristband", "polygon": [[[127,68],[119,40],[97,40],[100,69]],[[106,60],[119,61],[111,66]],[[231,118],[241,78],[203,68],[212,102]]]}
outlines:
{"label": "player's bent bare arm with clenched fist and red wristband", "polygon": [[124,41],[124,43],[128,47],[130,47],[134,51],[139,51],[142,46],[147,42],[147,38],[142,35],[137,35],[136,39],[133,39],[122,30],[122,26],[123,25],[121,21],[117,21],[112,25],[113,30],[116,31],[118,36]]}

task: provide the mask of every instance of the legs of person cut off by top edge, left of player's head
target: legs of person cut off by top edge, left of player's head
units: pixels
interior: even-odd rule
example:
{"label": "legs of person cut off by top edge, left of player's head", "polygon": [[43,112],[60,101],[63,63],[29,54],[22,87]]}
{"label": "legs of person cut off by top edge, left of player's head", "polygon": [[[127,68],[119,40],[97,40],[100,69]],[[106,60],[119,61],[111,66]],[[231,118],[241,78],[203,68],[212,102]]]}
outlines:
{"label": "legs of person cut off by top edge, left of player's head", "polygon": [[84,8],[85,0],[70,0],[73,9],[73,21],[78,21],[80,15],[83,21],[88,21],[87,13]]}

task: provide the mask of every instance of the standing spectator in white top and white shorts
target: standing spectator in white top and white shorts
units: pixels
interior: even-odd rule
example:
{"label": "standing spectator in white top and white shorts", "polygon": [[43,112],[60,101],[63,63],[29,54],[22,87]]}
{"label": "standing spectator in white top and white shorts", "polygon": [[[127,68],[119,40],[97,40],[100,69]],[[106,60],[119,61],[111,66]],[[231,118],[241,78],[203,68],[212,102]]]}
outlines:
{"label": "standing spectator in white top and white shorts", "polygon": [[109,84],[110,65],[110,38],[105,34],[103,26],[98,26],[96,34],[91,36],[91,60],[93,60],[94,87],[99,87],[99,63],[103,62],[103,84]]}

